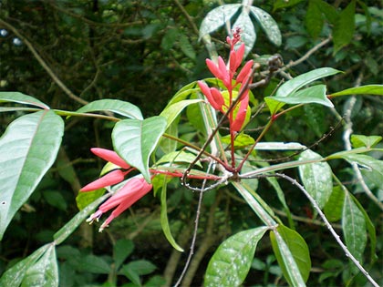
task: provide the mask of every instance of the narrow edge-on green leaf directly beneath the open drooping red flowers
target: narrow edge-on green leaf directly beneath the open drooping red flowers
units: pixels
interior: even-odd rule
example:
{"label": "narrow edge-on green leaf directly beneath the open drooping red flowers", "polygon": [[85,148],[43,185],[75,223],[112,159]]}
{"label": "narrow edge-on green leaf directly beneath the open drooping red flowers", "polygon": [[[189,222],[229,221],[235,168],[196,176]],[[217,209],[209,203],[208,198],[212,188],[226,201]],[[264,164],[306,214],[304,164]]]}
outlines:
{"label": "narrow edge-on green leaf directly beneath the open drooping red flowers", "polygon": [[[81,193],[86,193],[86,192],[80,192]],[[55,244],[61,244],[63,241],[67,239],[67,237],[72,234],[73,231],[75,231],[78,228],[78,225],[80,225],[84,220],[86,220],[89,216],[89,214],[95,210],[98,205],[109,198],[109,194],[106,194],[97,200],[94,200],[92,203],[88,204],[87,207],[84,207],[81,211],[76,214],[75,217],[73,217],[71,220],[67,222],[66,225],[64,225],[59,231],[53,235],[53,239],[55,240]]]}

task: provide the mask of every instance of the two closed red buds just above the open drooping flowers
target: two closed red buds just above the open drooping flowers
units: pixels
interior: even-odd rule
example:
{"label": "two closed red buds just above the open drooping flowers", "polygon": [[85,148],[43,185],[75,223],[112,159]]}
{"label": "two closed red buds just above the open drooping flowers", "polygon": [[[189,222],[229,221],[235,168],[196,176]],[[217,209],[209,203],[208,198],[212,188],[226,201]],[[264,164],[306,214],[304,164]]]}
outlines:
{"label": "two closed red buds just above the open drooping flowers", "polygon": [[128,163],[125,162],[124,159],[121,159],[119,155],[109,149],[99,149],[99,148],[93,148],[90,149],[95,155],[98,156],[98,158],[105,159],[110,161],[111,163],[115,164],[119,168],[122,169],[128,169],[128,170],[121,170],[121,169],[115,169],[110,171],[107,175],[96,179],[93,182],[90,182],[88,185],[83,187],[80,191],[92,191],[92,190],[98,190],[102,188],[109,187],[111,185],[115,185],[122,180],[125,179],[125,176],[132,170],[132,168],[129,166]]}

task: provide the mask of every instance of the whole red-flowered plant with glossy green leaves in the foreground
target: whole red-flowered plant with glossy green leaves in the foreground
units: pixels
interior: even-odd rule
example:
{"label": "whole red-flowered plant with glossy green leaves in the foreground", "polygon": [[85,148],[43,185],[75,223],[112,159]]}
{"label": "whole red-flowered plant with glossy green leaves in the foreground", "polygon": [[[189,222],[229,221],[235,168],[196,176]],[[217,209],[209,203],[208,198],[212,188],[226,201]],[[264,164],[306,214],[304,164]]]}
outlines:
{"label": "whole red-flowered plant with glossy green leaves in the foreground", "polygon": [[[256,81],[254,74],[262,66],[254,60],[243,64],[245,45],[241,39],[242,32],[243,29],[235,27],[233,35],[227,37],[230,54],[226,62],[221,56],[206,60],[213,77],[182,87],[156,117],[142,118],[140,108],[116,99],[101,99],[77,111],[63,111],[50,108],[35,97],[18,92],[0,93],[1,102],[17,104],[13,107],[8,105],[2,111],[24,113],[6,128],[0,139],[0,150],[3,151],[0,159],[1,237],[16,211],[26,202],[57,158],[64,133],[62,117],[92,117],[115,122],[111,134],[114,150],[91,149],[107,163],[100,178],[82,188],[78,196],[78,200],[83,202],[90,198],[98,199],[80,210],[76,217],[57,231],[54,241],[5,272],[0,279],[0,285],[7,286],[10,282],[12,286],[39,285],[45,281],[49,286],[58,286],[57,245],[65,241],[87,218],[92,223],[112,210],[109,217],[98,226],[99,231],[103,231],[109,224],[113,224],[112,220],[116,220],[123,211],[152,189],[156,190],[161,202],[160,221],[164,234],[175,249],[183,251],[171,235],[167,216],[167,184],[170,179],[175,179],[187,189],[199,192],[200,204],[204,192],[219,192],[220,187],[230,184],[254,210],[254,217],[263,222],[262,226],[233,234],[222,242],[207,267],[205,286],[241,285],[251,268],[254,256],[256,257],[257,243],[266,234],[285,281],[291,286],[305,286],[311,268],[308,247],[305,239],[295,231],[294,225],[286,226],[257,194],[252,180],[266,179],[274,187],[288,215],[290,211],[284,191],[279,185],[280,180],[287,180],[301,192],[311,203],[317,216],[325,222],[328,231],[334,235],[334,240],[345,256],[372,285],[378,286],[363,267],[367,234],[371,256],[376,256],[374,226],[361,204],[337,179],[328,161],[346,160],[357,163],[359,167],[367,167],[367,172],[382,175],[382,161],[368,154],[371,151],[383,151],[375,148],[381,137],[354,135],[354,142],[357,143],[354,149],[341,150],[326,156],[300,143],[263,140],[274,123],[295,108],[311,104],[334,108],[331,98],[351,94],[382,95],[383,87],[362,86],[327,95],[326,86],[317,84],[317,80],[336,75],[340,71],[322,67],[286,81],[277,88],[274,95],[264,97],[264,101],[254,101],[252,91],[267,85],[283,62],[280,56],[270,57],[264,77]],[[201,127],[198,130],[199,135],[205,137],[202,146],[198,146],[198,140],[194,143],[178,136],[179,119],[183,117],[184,111],[191,108],[190,117],[199,123],[194,127]],[[268,120],[257,137],[246,134],[246,126],[264,113],[269,113]],[[119,118],[114,114],[118,114]],[[290,155],[283,161],[279,160],[280,163],[269,164],[257,154],[257,149],[289,151]],[[291,151],[295,151],[293,155]],[[286,169],[298,169],[300,180],[285,174],[282,170]],[[131,176],[133,170],[135,175]],[[380,178],[380,182],[381,180]],[[334,189],[337,190],[337,197],[332,196]],[[339,202],[339,199],[342,201]],[[326,206],[335,204],[340,206],[338,212],[342,217],[343,240],[323,211]],[[200,210],[196,213],[194,240],[197,236]],[[188,268],[192,251],[191,246],[184,270]],[[36,271],[41,264],[44,264],[44,268]],[[183,274],[175,283],[176,286],[181,284]]]}

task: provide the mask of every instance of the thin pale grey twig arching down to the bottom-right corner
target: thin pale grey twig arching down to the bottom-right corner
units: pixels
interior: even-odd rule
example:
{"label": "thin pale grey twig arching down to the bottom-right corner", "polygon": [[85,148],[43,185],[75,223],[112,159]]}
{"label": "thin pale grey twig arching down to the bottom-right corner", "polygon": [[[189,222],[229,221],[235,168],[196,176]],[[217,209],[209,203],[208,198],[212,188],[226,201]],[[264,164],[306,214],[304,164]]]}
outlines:
{"label": "thin pale grey twig arching down to the bottom-right corner", "polygon": [[283,173],[275,173],[275,174],[267,174],[267,175],[264,175],[264,176],[267,176],[267,177],[278,177],[278,178],[282,178],[282,179],[286,179],[288,181],[290,181],[292,184],[294,184],[299,190],[301,190],[304,194],[305,194],[305,197],[310,201],[310,203],[313,205],[313,207],[316,209],[316,211],[318,212],[318,215],[321,217],[321,219],[325,222],[326,224],[326,227],[327,229],[331,232],[331,234],[333,235],[333,237],[335,238],[337,244],[342,248],[342,250],[345,252],[346,256],[354,262],[354,264],[357,266],[357,269],[360,270],[360,272],[362,272],[367,280],[374,286],[374,287],[379,287],[378,283],[375,282],[375,280],[368,274],[368,272],[363,268],[363,266],[359,263],[359,261],[357,261],[357,259],[354,257],[354,255],[352,255],[352,253],[350,251],[348,251],[347,249],[347,246],[345,245],[345,243],[343,243],[343,241],[341,241],[339,235],[337,235],[336,231],[334,230],[333,226],[331,225],[331,223],[327,220],[326,218],[326,215],[322,212],[322,210],[319,208],[319,206],[317,205],[316,203],[316,200],[314,200],[314,198],[307,192],[307,190],[305,190],[305,187],[302,186],[298,181],[296,181],[295,179],[293,178],[290,178],[289,176],[286,176],[285,174]]}

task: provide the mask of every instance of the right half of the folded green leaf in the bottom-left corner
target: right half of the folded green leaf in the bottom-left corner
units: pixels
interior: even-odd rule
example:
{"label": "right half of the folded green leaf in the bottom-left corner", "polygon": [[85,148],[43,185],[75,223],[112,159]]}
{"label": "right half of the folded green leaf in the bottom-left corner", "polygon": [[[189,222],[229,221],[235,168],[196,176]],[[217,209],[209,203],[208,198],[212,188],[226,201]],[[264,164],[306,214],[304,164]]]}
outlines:
{"label": "right half of the folded green leaf in the bottom-left corner", "polygon": [[50,244],[38,261],[28,268],[21,286],[58,287],[58,266],[54,244]]}

